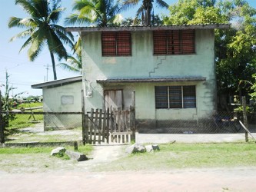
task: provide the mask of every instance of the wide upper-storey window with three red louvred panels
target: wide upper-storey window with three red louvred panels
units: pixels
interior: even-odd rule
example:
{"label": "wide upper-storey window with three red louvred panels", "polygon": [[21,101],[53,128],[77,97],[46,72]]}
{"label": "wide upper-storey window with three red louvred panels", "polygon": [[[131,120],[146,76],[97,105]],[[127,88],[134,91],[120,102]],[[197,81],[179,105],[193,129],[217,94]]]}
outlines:
{"label": "wide upper-storey window with three red louvred panels", "polygon": [[194,30],[153,31],[154,55],[194,54]]}

